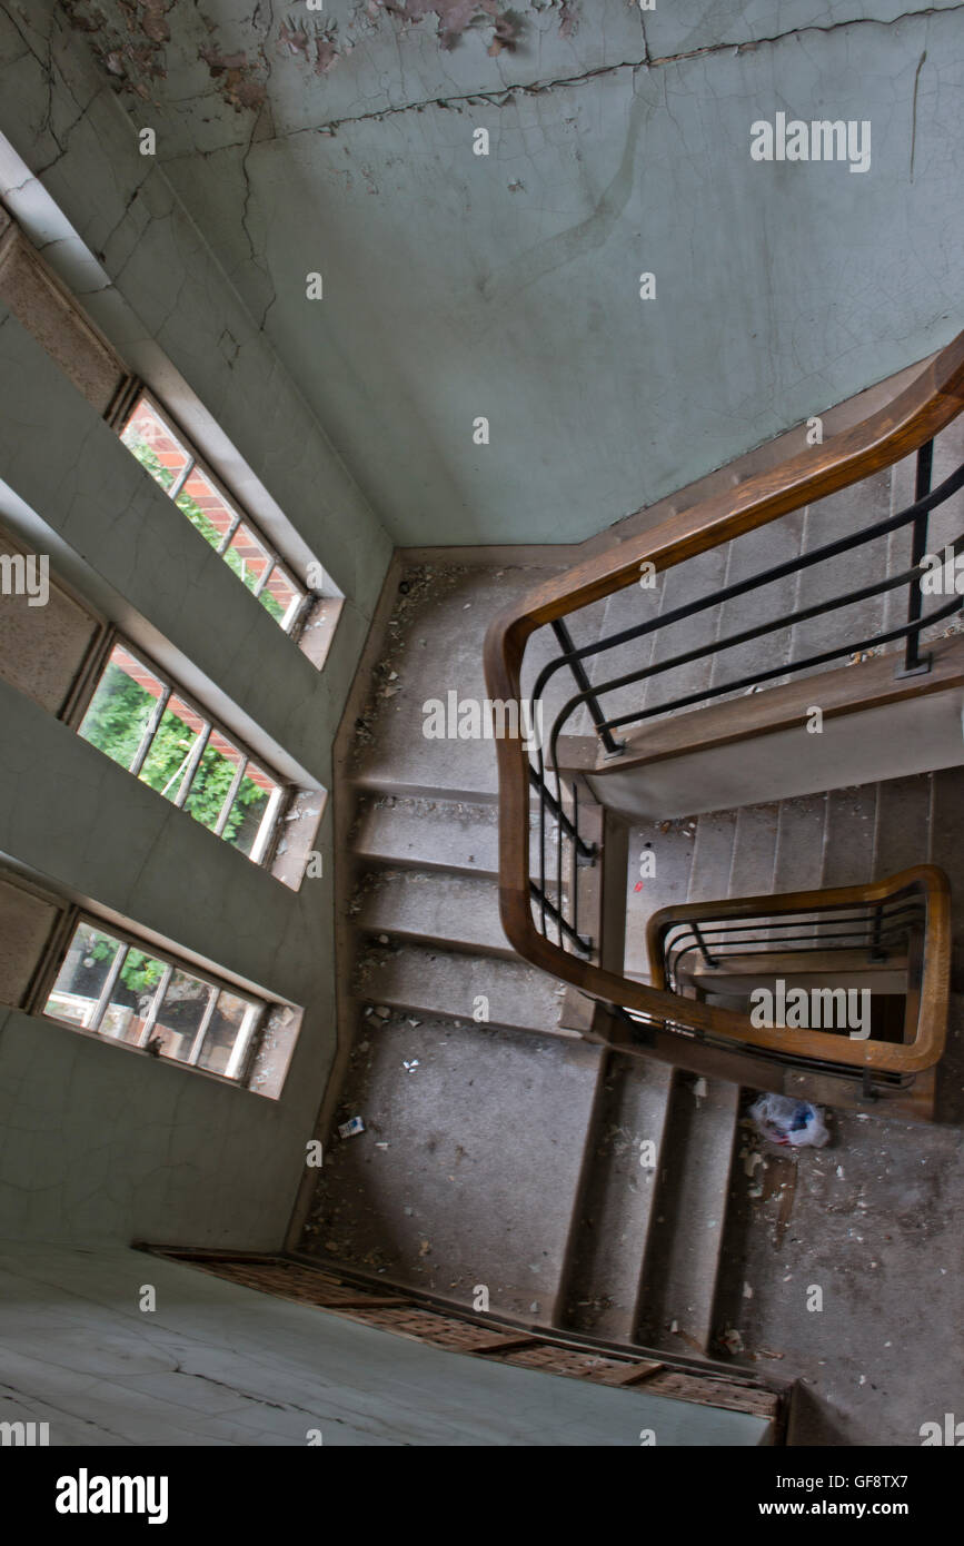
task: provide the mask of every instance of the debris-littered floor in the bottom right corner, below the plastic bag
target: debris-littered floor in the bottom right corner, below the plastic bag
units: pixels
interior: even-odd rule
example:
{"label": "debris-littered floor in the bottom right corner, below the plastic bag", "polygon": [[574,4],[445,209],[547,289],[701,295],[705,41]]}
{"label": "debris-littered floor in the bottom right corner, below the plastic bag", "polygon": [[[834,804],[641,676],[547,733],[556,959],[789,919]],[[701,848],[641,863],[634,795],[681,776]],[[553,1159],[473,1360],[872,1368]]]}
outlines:
{"label": "debris-littered floor in the bottom right corner, below the plastic bag", "polygon": [[805,1382],[796,1442],[915,1446],[964,1411],[961,1132],[850,1112],[830,1127],[796,1155],[748,1135],[763,1197],[737,1166],[717,1314],[738,1362]]}

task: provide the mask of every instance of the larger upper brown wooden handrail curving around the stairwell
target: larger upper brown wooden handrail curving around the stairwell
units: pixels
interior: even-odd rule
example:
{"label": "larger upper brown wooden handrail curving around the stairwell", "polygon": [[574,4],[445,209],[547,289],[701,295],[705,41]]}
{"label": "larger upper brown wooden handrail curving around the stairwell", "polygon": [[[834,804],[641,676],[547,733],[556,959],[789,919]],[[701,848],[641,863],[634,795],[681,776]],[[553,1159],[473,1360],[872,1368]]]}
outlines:
{"label": "larger upper brown wooden handrail curving around the stairwell", "polygon": [[[657,570],[670,569],[686,558],[729,543],[745,532],[797,510],[814,499],[823,499],[839,489],[868,478],[919,450],[964,410],[964,332],[947,345],[935,360],[891,404],[864,419],[823,445],[816,445],[782,462],[780,467],[748,478],[734,490],[712,495],[683,510],[650,532],[613,544],[613,547],[578,564],[567,574],[545,581],[502,611],[485,635],[485,685],[491,699],[519,700],[525,643],[545,623],[599,601],[638,580],[643,563]],[[606,1003],[624,1005],[655,1020],[684,1022],[697,1031],[725,1037],[738,1045],[755,1045],[786,1051],[772,1031],[754,1028],[749,1017],[735,1010],[681,999],[660,988],[650,988],[592,962],[570,955],[536,929],[528,889],[528,756],[521,739],[497,739],[499,767],[499,911],[502,928],[516,952],[533,966],[550,972]],[[941,873],[941,872],[936,872]],[[874,887],[860,889],[860,900],[874,900]],[[945,894],[938,887],[932,904],[935,917],[949,918]],[[949,928],[949,925],[947,925]],[[933,968],[933,962],[930,963]],[[924,980],[936,997],[924,1002],[921,1013],[939,1016],[939,983],[944,983],[944,1008],[949,965]],[[936,976],[935,976],[936,972]],[[683,1013],[684,1011],[684,1013]],[[910,1047],[885,1042],[850,1042],[836,1054],[823,1037],[819,1056],[823,1061],[873,1064],[877,1068],[913,1073],[930,1067],[941,1056],[944,1031]],[[939,1045],[938,1045],[939,1044]],[[802,1047],[799,1048],[802,1051]]]}

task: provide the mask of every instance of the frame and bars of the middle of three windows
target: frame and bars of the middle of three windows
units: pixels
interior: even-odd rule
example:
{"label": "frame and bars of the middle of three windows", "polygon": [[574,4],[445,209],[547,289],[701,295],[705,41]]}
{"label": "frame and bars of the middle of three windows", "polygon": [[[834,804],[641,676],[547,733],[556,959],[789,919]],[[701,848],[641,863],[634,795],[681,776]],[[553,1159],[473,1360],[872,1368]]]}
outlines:
{"label": "frame and bars of the middle of three windows", "polygon": [[[222,725],[216,716],[213,716],[209,710],[202,708],[201,703],[196,702],[192,693],[185,693],[181,683],[176,682],[168,671],[164,671],[161,666],[158,666],[151,659],[151,656],[148,656],[137,645],[128,640],[117,628],[108,629],[107,637],[102,643],[102,652],[99,656],[97,665],[91,671],[91,676],[85,683],[83,694],[76,700],[71,714],[65,722],[70,725],[74,734],[80,737],[80,741],[87,741],[87,737],[80,734],[80,730],[87,717],[87,713],[94,697],[97,696],[97,690],[104,677],[107,676],[107,669],[113,663],[111,657],[114,654],[114,649],[117,648],[127,651],[127,654],[131,656],[131,659],[136,660],[137,665],[150,671],[150,674],[156,677],[158,682],[161,683],[162,691],[158,700],[154,702],[147,725],[144,727],[144,731],[141,734],[141,742],[137,745],[137,751],[134,753],[131,765],[125,768],[122,762],[114,762],[114,767],[119,767],[122,768],[122,771],[130,773],[131,778],[137,779],[137,782],[144,782],[141,779],[141,770],[144,768],[144,764],[150,754],[150,748],[154,742],[154,737],[161,730],[161,724],[164,720],[167,707],[171,697],[181,699],[185,708],[188,708],[201,720],[201,730],[198,731],[193,747],[190,748],[188,761],[181,773],[181,782],[173,799],[168,798],[167,795],[162,795],[161,790],[154,790],[154,793],[161,795],[161,799],[164,799],[168,805],[175,805],[178,810],[184,810],[195,778],[198,776],[198,771],[201,768],[204,753],[209,747],[210,734],[212,731],[218,731],[219,736],[222,736],[232,747],[236,748],[241,761],[229,785],[227,795],[224,796],[224,804],[221,805],[221,810],[218,813],[218,821],[215,822],[215,826],[207,827],[202,821],[198,821],[196,826],[204,827],[204,830],[210,832],[212,836],[219,838],[221,841],[227,843],[229,847],[233,847],[233,844],[227,838],[224,838],[224,827],[227,826],[227,819],[230,816],[238,790],[241,788],[244,773],[249,764],[253,762],[260,771],[266,773],[273,781],[275,788],[273,793],[269,795],[267,807],[264,810],[264,815],[261,816],[261,824],[258,827],[255,841],[252,843],[250,853],[244,853],[241,849],[235,849],[235,852],[239,853],[241,858],[247,860],[247,863],[255,864],[258,869],[269,870],[273,849],[278,841],[278,833],[281,830],[283,818],[287,809],[290,807],[292,799],[298,793],[298,787],[292,784],[290,779],[283,778],[273,767],[270,767],[266,762],[264,758],[253,753],[250,747],[232,730]],[[87,745],[91,747],[94,751],[100,751],[100,747],[94,745],[93,741],[87,741]],[[108,756],[108,754],[107,751],[100,751],[100,756]],[[110,758],[108,761],[113,762],[114,759]],[[144,787],[151,788],[150,784],[144,784]]]}

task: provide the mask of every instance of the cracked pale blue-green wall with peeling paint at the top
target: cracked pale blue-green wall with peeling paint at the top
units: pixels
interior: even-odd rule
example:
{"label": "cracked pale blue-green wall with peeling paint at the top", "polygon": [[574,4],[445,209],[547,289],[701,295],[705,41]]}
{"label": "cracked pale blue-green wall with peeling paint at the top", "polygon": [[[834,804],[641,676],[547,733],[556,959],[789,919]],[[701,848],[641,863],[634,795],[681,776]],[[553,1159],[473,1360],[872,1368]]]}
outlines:
{"label": "cracked pale blue-green wall with peeling paint at the top", "polygon": [[[962,12],[56,8],[402,543],[589,535],[944,343]],[[751,161],[776,111],[870,119],[870,173]]]}

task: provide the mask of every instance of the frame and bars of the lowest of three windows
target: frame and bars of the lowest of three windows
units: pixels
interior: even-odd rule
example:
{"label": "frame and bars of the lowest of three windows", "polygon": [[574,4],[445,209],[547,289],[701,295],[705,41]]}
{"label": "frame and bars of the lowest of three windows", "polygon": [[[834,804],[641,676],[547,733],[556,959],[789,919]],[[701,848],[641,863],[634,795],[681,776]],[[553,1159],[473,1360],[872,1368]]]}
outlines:
{"label": "frame and bars of the lowest of three windows", "polygon": [[[94,1008],[94,1017],[90,1025],[80,1025],[76,1020],[59,1019],[56,1014],[48,1014],[46,1003],[56,989],[57,977],[70,955],[70,951],[77,938],[77,931],[87,925],[96,929],[99,934],[107,934],[116,938],[120,949],[110,963],[107,977],[104,979],[104,986],[97,997]],[[110,1006],[110,996],[114,991],[117,977],[124,969],[124,962],[131,949],[142,951],[153,960],[164,965],[164,972],[153,989],[150,1008],[144,1020],[144,1030],[137,1042],[125,1042],[116,1036],[110,1036],[102,1031],[104,1016]],[[161,1013],[161,1005],[164,1003],[164,996],[170,985],[170,980],[176,971],[185,972],[188,977],[195,977],[212,989],[207,1000],[201,1025],[195,1033],[195,1040],[192,1044],[190,1057],[158,1057],[158,1062],[167,1062],[175,1068],[192,1068],[195,1073],[202,1073],[210,1079],[221,1079],[222,1084],[230,1084],[239,1090],[252,1091],[249,1079],[255,1067],[258,1056],[258,1047],[261,1042],[261,1033],[269,1020],[272,1010],[277,1006],[273,1000],[263,999],[260,994],[250,993],[247,988],[239,988],[236,983],[219,977],[216,972],[210,972],[202,966],[195,966],[192,962],[185,960],[182,955],[176,955],[173,951],[164,946],[156,946],[134,931],[125,928],[124,925],[114,925],[110,920],[100,918],[96,912],[88,908],[80,908],[76,904],[66,904],[63,912],[62,925],[57,931],[57,948],[49,952],[48,960],[43,965],[43,971],[37,974],[37,985],[26,1000],[26,1013],[37,1014],[40,1019],[48,1020],[51,1025],[60,1025],[65,1030],[82,1031],[87,1036],[94,1036],[102,1042],[113,1044],[114,1047],[127,1047],[130,1051],[145,1051],[151,1039],[154,1025],[158,1022],[158,1014]],[[215,1068],[202,1068],[199,1065],[199,1057],[204,1050],[204,1042],[210,1022],[215,1016],[218,1006],[218,999],[222,993],[232,994],[236,999],[244,999],[247,1003],[246,1017],[243,1022],[243,1030],[246,1030],[246,1039],[238,1054],[238,1071],[236,1073],[218,1073]],[[252,1013],[253,1011],[253,1013]],[[250,1023],[247,1023],[250,1019]],[[232,1050],[232,1057],[229,1059],[229,1067],[235,1059],[236,1053]]]}

